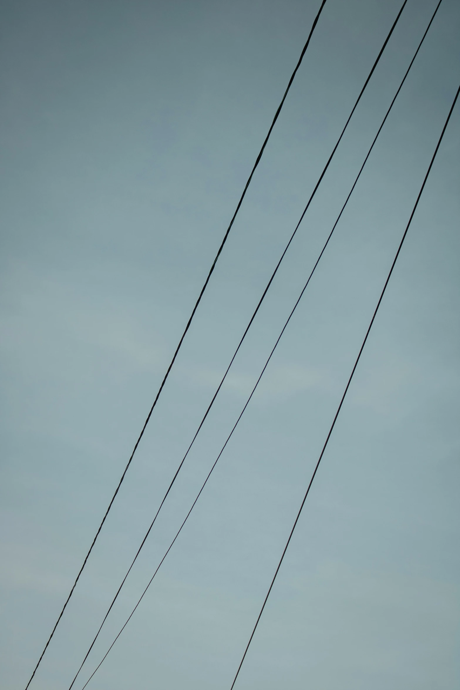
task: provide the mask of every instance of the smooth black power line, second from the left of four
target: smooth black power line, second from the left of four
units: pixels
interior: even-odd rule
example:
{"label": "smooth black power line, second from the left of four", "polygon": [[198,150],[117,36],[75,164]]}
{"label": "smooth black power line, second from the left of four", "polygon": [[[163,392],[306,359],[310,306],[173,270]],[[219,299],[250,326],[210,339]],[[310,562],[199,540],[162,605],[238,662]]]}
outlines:
{"label": "smooth black power line, second from the left of four", "polygon": [[239,352],[239,348],[240,348],[241,345],[243,344],[243,340],[246,338],[246,335],[247,335],[247,333],[248,333],[248,331],[249,331],[249,329],[250,329],[250,326],[252,325],[252,322],[254,321],[254,318],[256,317],[257,312],[259,311],[259,308],[260,308],[260,306],[261,306],[261,304],[262,304],[262,302],[263,302],[263,299],[265,299],[266,294],[268,293],[268,289],[270,288],[270,285],[272,284],[272,281],[273,281],[275,275],[277,274],[277,271],[278,271],[278,269],[279,269],[279,266],[281,265],[281,262],[283,261],[283,258],[285,257],[286,252],[288,251],[288,248],[290,247],[290,244],[291,244],[292,240],[294,239],[294,236],[296,235],[297,230],[299,229],[299,226],[300,226],[300,224],[301,224],[301,221],[303,220],[303,217],[304,217],[304,215],[306,214],[306,212],[307,212],[307,210],[308,210],[308,207],[310,206],[311,201],[312,201],[314,195],[317,193],[317,189],[319,188],[319,185],[321,184],[321,180],[323,179],[324,175],[326,175],[326,170],[328,169],[328,167],[329,167],[329,165],[330,165],[330,162],[332,161],[332,158],[334,157],[334,153],[336,152],[337,147],[339,146],[340,141],[341,141],[341,139],[342,139],[342,137],[343,137],[343,134],[345,133],[345,130],[346,130],[346,128],[348,127],[348,124],[349,124],[349,122],[350,122],[350,119],[352,118],[352,115],[353,115],[353,113],[354,113],[354,110],[356,110],[357,105],[358,105],[359,101],[361,100],[361,96],[363,95],[363,92],[364,92],[364,90],[366,89],[366,86],[368,85],[368,83],[369,83],[369,81],[370,81],[370,78],[372,77],[372,74],[373,74],[375,68],[377,67],[377,63],[379,62],[379,60],[380,60],[380,58],[381,58],[381,55],[383,54],[383,50],[385,50],[386,45],[387,45],[388,41],[390,40],[390,36],[391,36],[391,34],[392,34],[393,30],[394,30],[394,27],[397,25],[397,22],[399,21],[399,17],[401,17],[401,12],[403,11],[404,7],[406,6],[406,2],[407,2],[407,0],[404,0],[404,1],[403,1],[403,4],[402,4],[402,6],[401,6],[401,9],[399,10],[399,12],[398,12],[398,14],[397,14],[397,17],[396,17],[396,19],[394,20],[394,23],[393,23],[393,25],[392,25],[392,27],[391,27],[391,29],[390,29],[390,32],[388,33],[388,36],[386,37],[386,40],[385,40],[385,42],[383,43],[383,46],[382,46],[382,48],[381,48],[381,50],[380,50],[380,52],[379,52],[379,55],[377,56],[377,59],[375,60],[374,65],[372,66],[372,69],[371,69],[370,72],[369,72],[368,78],[366,79],[366,81],[365,81],[365,83],[364,83],[364,86],[363,86],[363,88],[361,89],[361,92],[359,93],[359,96],[358,96],[358,98],[357,98],[357,101],[354,103],[354,106],[353,106],[353,108],[352,108],[352,111],[350,112],[350,115],[349,115],[349,117],[348,117],[348,119],[347,119],[347,121],[346,121],[346,124],[345,124],[345,126],[343,127],[343,130],[342,130],[342,132],[341,132],[341,135],[339,136],[339,139],[337,140],[337,144],[335,144],[334,149],[332,150],[332,153],[331,153],[331,155],[330,155],[330,157],[329,157],[329,159],[328,159],[328,162],[326,163],[326,166],[324,167],[323,172],[321,172],[321,175],[320,175],[320,177],[319,177],[319,180],[317,181],[317,184],[316,184],[316,186],[314,187],[314,190],[312,191],[312,194],[310,195],[310,199],[308,199],[308,204],[307,204],[306,207],[304,208],[303,213],[302,213],[302,215],[301,215],[301,217],[300,217],[300,220],[299,220],[299,222],[297,223],[297,226],[295,227],[294,232],[292,233],[292,235],[291,235],[291,237],[290,237],[290,240],[289,240],[288,244],[286,245],[286,248],[284,249],[283,254],[281,255],[281,258],[279,259],[279,262],[278,262],[276,268],[274,269],[274,272],[272,273],[272,276],[270,277],[270,280],[268,281],[268,284],[267,284],[265,290],[263,291],[263,295],[262,295],[261,298],[259,299],[259,304],[257,304],[257,307],[256,307],[254,313],[252,314],[252,317],[251,317],[251,319],[250,319],[250,322],[248,323],[248,326],[246,326],[246,330],[244,331],[243,336],[241,337],[241,340],[240,340],[240,342],[239,342],[239,345],[237,346],[237,349],[234,351],[234,355],[232,356],[232,359],[230,360],[230,364],[228,365],[228,367],[227,367],[227,369],[226,369],[226,373],[223,375],[223,378],[222,378],[222,380],[221,380],[219,386],[217,387],[216,392],[214,393],[214,395],[213,395],[213,397],[212,397],[212,400],[211,400],[211,402],[210,402],[210,404],[209,404],[209,406],[208,406],[208,409],[206,410],[206,413],[204,414],[203,419],[201,420],[201,422],[200,422],[200,424],[199,424],[199,426],[198,426],[198,428],[197,428],[197,431],[196,431],[194,437],[192,438],[192,442],[190,443],[190,446],[188,446],[188,449],[187,449],[187,451],[186,451],[186,454],[183,456],[183,458],[182,458],[182,460],[181,460],[181,462],[180,462],[180,464],[179,464],[179,467],[177,468],[177,471],[176,471],[176,473],[174,474],[174,477],[172,477],[172,481],[171,481],[170,485],[168,486],[168,490],[166,491],[165,495],[163,496],[163,500],[161,501],[161,503],[160,503],[160,505],[159,505],[159,509],[157,510],[157,513],[155,514],[155,516],[154,516],[154,518],[153,518],[153,520],[152,520],[152,523],[150,524],[150,527],[148,528],[148,531],[147,531],[145,537],[143,538],[143,540],[142,540],[142,542],[141,542],[141,545],[139,546],[139,549],[137,550],[137,553],[136,553],[136,555],[134,556],[134,559],[132,560],[132,563],[130,564],[129,569],[128,569],[126,575],[124,576],[124,578],[123,578],[123,580],[122,580],[122,582],[121,582],[121,584],[120,584],[120,586],[119,586],[119,589],[117,590],[117,593],[114,595],[114,598],[112,599],[112,603],[110,604],[110,607],[108,608],[108,611],[106,612],[106,615],[105,615],[104,618],[103,618],[103,621],[102,621],[102,623],[101,623],[101,626],[99,627],[99,630],[97,631],[97,633],[96,633],[96,635],[95,635],[95,637],[94,637],[94,640],[92,640],[92,643],[90,644],[90,648],[88,649],[88,651],[87,651],[87,653],[86,653],[86,655],[85,655],[85,658],[83,659],[83,662],[81,662],[81,666],[80,666],[79,670],[77,671],[76,675],[74,676],[74,679],[72,680],[72,683],[70,684],[69,690],[71,690],[71,688],[72,688],[72,686],[73,686],[75,680],[77,680],[77,676],[79,675],[81,669],[83,668],[83,664],[86,662],[86,659],[88,658],[88,655],[90,654],[90,651],[91,651],[92,647],[94,646],[94,643],[96,642],[96,640],[97,640],[97,638],[98,638],[98,636],[99,636],[99,633],[101,632],[101,629],[102,629],[102,627],[103,627],[103,624],[106,622],[107,617],[108,617],[110,611],[112,610],[112,607],[113,607],[115,601],[117,600],[118,595],[119,595],[119,593],[120,593],[120,591],[121,591],[121,589],[122,589],[122,587],[123,587],[123,584],[125,584],[125,582],[126,582],[126,578],[128,578],[128,575],[129,575],[129,573],[130,573],[130,571],[131,571],[131,569],[132,569],[132,566],[134,566],[134,563],[136,562],[137,557],[139,556],[139,553],[141,553],[141,550],[143,549],[143,545],[145,544],[145,542],[146,542],[146,540],[147,540],[147,538],[148,538],[148,535],[150,534],[150,531],[151,531],[151,529],[152,529],[152,527],[153,527],[155,521],[157,520],[157,517],[158,517],[158,515],[159,515],[159,512],[161,511],[161,508],[162,508],[164,502],[166,501],[166,498],[168,497],[168,494],[169,494],[170,490],[172,489],[172,485],[173,485],[174,482],[176,481],[177,475],[179,475],[179,472],[181,471],[181,467],[183,466],[183,463],[185,462],[186,457],[188,456],[188,453],[190,452],[190,449],[192,448],[192,445],[194,444],[195,439],[197,438],[199,432],[201,431],[201,427],[203,426],[203,424],[204,424],[204,422],[205,422],[205,420],[206,420],[206,417],[208,416],[208,413],[210,412],[210,409],[212,408],[212,405],[214,404],[214,400],[216,400],[217,395],[219,394],[219,391],[220,391],[220,389],[221,389],[221,387],[222,387],[222,385],[223,385],[223,382],[226,380],[227,374],[228,374],[228,372],[230,371],[230,367],[232,366],[232,364],[233,364],[233,362],[234,362],[234,359],[235,359],[235,357],[237,356],[237,353]]}

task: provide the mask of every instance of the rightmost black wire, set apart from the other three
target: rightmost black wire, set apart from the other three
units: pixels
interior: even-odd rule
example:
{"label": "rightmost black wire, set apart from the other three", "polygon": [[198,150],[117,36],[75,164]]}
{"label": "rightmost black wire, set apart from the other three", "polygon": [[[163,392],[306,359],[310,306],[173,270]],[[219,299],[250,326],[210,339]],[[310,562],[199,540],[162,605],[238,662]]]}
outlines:
{"label": "rightmost black wire, set apart from the other three", "polygon": [[439,146],[441,145],[441,141],[442,141],[442,139],[443,139],[444,132],[446,132],[446,128],[447,128],[448,122],[449,122],[449,120],[450,120],[450,115],[452,115],[452,110],[454,110],[454,106],[455,106],[455,103],[457,102],[457,98],[459,97],[459,93],[460,93],[460,86],[459,86],[459,88],[458,88],[458,90],[457,90],[457,94],[455,95],[454,102],[452,103],[452,107],[450,108],[449,115],[448,115],[448,117],[447,117],[447,119],[446,119],[446,123],[445,123],[444,126],[443,126],[443,130],[442,130],[442,132],[441,132],[441,137],[439,137],[439,141],[438,141],[438,143],[437,143],[436,149],[434,150],[434,154],[433,154],[433,157],[432,157],[432,159],[431,159],[430,165],[428,166],[428,170],[427,170],[427,172],[426,172],[425,179],[423,179],[423,184],[422,184],[422,186],[421,186],[421,188],[420,188],[419,195],[418,195],[418,197],[417,197],[417,201],[415,202],[414,208],[412,209],[412,213],[410,214],[409,222],[408,222],[408,224],[407,224],[407,226],[406,226],[406,230],[404,230],[403,237],[402,237],[402,239],[401,239],[401,242],[400,242],[400,244],[399,244],[399,247],[398,247],[396,256],[394,257],[392,266],[391,266],[391,268],[390,268],[390,273],[388,273],[388,277],[387,277],[387,279],[386,279],[385,285],[383,286],[383,290],[382,290],[382,292],[381,292],[381,295],[380,295],[380,298],[379,298],[379,302],[377,302],[377,307],[375,308],[374,314],[372,315],[372,319],[370,320],[369,328],[368,328],[368,330],[367,330],[367,332],[366,332],[366,336],[364,337],[363,344],[361,345],[361,348],[360,348],[360,350],[359,350],[359,354],[358,354],[357,360],[356,360],[356,362],[354,362],[354,367],[352,368],[352,373],[350,374],[350,378],[348,379],[348,383],[347,383],[347,385],[346,385],[345,391],[343,391],[343,395],[342,395],[342,397],[341,397],[341,401],[340,401],[339,407],[337,408],[337,412],[335,413],[334,420],[332,421],[331,427],[330,427],[330,429],[329,429],[328,436],[326,437],[326,442],[324,443],[323,449],[322,449],[322,451],[321,451],[321,454],[319,455],[319,460],[318,460],[318,462],[317,462],[317,464],[316,464],[316,466],[315,466],[315,468],[314,468],[314,472],[313,472],[313,474],[312,474],[312,478],[310,479],[310,484],[308,484],[308,489],[307,489],[307,491],[306,491],[305,496],[303,497],[303,501],[302,501],[302,503],[301,503],[299,512],[297,513],[297,517],[296,517],[296,519],[295,519],[295,521],[294,521],[294,525],[292,526],[292,530],[290,531],[290,535],[289,535],[288,541],[286,542],[286,546],[284,547],[283,554],[281,555],[281,559],[280,559],[279,564],[278,564],[278,567],[277,567],[277,569],[276,569],[276,571],[275,571],[275,573],[274,573],[274,576],[273,576],[272,582],[271,582],[271,584],[270,584],[270,587],[268,588],[268,592],[267,592],[266,598],[265,598],[265,600],[263,601],[262,608],[261,608],[260,613],[259,613],[259,615],[258,615],[258,617],[257,617],[256,624],[254,625],[254,629],[252,630],[251,636],[250,636],[250,638],[249,638],[249,642],[248,642],[248,644],[247,644],[247,646],[246,646],[246,649],[245,649],[245,651],[244,651],[244,653],[243,653],[243,658],[241,659],[241,662],[240,662],[240,664],[239,664],[239,667],[238,667],[238,670],[237,670],[237,675],[234,677],[234,680],[233,680],[233,682],[232,682],[232,686],[230,687],[230,690],[233,690],[233,686],[234,686],[234,684],[235,684],[235,682],[236,682],[236,680],[237,680],[237,678],[238,678],[238,674],[239,674],[239,671],[240,671],[240,669],[241,669],[241,666],[243,665],[243,661],[244,661],[244,659],[245,659],[245,657],[246,657],[246,653],[248,652],[249,645],[251,644],[251,641],[252,641],[252,638],[254,637],[254,633],[255,633],[255,631],[256,631],[257,625],[259,624],[259,620],[261,619],[261,615],[262,615],[262,613],[263,613],[263,609],[265,609],[265,605],[266,605],[266,603],[267,603],[268,597],[270,596],[270,592],[272,591],[272,586],[273,586],[273,584],[274,584],[274,580],[276,580],[276,578],[277,578],[278,571],[279,571],[279,569],[281,568],[281,563],[283,562],[284,555],[286,554],[286,551],[288,550],[288,546],[289,546],[289,542],[290,542],[290,540],[291,540],[291,538],[292,538],[292,534],[294,533],[294,529],[296,528],[296,525],[297,525],[297,522],[298,522],[298,520],[299,520],[300,514],[301,514],[301,512],[302,512],[303,506],[305,505],[305,502],[306,502],[306,500],[307,500],[308,492],[310,491],[310,486],[312,486],[312,483],[313,483],[313,480],[314,480],[314,476],[316,475],[317,470],[318,470],[318,468],[319,468],[319,463],[321,462],[321,459],[322,459],[322,457],[323,457],[323,455],[324,455],[324,451],[326,451],[326,446],[328,445],[328,442],[329,442],[329,439],[330,439],[330,435],[332,434],[332,430],[333,430],[333,428],[334,428],[334,426],[335,426],[335,422],[337,422],[337,417],[339,416],[339,413],[340,413],[340,411],[341,411],[341,406],[343,405],[343,400],[345,400],[345,396],[346,396],[346,394],[347,394],[347,392],[348,392],[348,388],[350,387],[350,383],[352,382],[352,378],[353,378],[354,372],[356,371],[356,368],[357,368],[357,366],[358,366],[359,358],[361,357],[361,353],[363,352],[364,346],[366,345],[366,341],[367,341],[367,339],[368,339],[368,335],[369,335],[369,333],[370,333],[370,329],[372,328],[372,324],[374,323],[374,319],[375,319],[375,317],[376,317],[376,315],[377,315],[377,311],[379,311],[379,306],[380,306],[381,301],[382,301],[382,299],[383,299],[383,295],[385,294],[385,290],[386,290],[386,288],[387,288],[387,286],[388,286],[388,282],[390,281],[391,274],[393,273],[394,265],[395,265],[396,262],[397,262],[397,259],[398,259],[398,257],[399,257],[399,252],[401,251],[401,247],[403,246],[403,242],[404,242],[404,240],[406,239],[406,235],[408,234],[409,226],[410,226],[410,224],[411,224],[411,222],[412,222],[412,218],[414,217],[415,210],[416,210],[416,208],[417,208],[417,206],[418,206],[418,204],[419,204],[419,200],[420,200],[420,197],[421,197],[421,195],[422,195],[423,188],[425,187],[426,181],[427,181],[427,179],[428,179],[428,175],[430,175],[430,170],[431,170],[431,168],[432,168],[432,164],[434,163],[434,159],[436,158],[436,155],[437,155]]}

